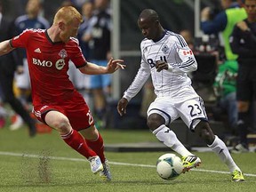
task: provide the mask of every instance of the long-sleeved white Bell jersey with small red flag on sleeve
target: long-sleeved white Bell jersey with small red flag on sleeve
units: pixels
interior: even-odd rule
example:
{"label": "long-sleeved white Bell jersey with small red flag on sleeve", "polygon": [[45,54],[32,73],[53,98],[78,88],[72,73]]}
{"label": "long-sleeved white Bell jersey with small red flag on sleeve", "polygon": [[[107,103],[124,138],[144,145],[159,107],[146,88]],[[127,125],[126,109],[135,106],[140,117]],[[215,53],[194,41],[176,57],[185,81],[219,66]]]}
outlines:
{"label": "long-sleeved white Bell jersey with small red flag on sleeve", "polygon": [[[124,92],[124,98],[131,100],[146,83],[151,74],[157,98],[168,97],[180,101],[198,96],[191,86],[187,73],[197,69],[193,52],[184,38],[171,31],[165,31],[161,40],[154,42],[145,38],[140,44],[140,69],[130,87]],[[156,61],[168,63],[168,70],[156,71]],[[192,94],[191,94],[192,93]]]}

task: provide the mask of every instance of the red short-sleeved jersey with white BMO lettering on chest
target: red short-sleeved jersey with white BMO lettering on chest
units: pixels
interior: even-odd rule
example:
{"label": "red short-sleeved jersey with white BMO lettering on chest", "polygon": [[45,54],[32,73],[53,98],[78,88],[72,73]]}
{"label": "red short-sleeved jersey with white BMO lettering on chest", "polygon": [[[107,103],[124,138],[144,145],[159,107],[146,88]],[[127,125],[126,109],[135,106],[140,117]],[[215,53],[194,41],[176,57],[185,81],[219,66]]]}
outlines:
{"label": "red short-sleeved jersey with white BMO lettering on chest", "polygon": [[84,98],[76,92],[67,74],[68,60],[72,60],[76,68],[86,65],[76,38],[71,37],[66,44],[53,43],[47,30],[26,29],[20,36],[13,37],[11,44],[15,48],[23,47],[27,51],[32,100],[35,107],[68,106],[72,102],[84,103]]}

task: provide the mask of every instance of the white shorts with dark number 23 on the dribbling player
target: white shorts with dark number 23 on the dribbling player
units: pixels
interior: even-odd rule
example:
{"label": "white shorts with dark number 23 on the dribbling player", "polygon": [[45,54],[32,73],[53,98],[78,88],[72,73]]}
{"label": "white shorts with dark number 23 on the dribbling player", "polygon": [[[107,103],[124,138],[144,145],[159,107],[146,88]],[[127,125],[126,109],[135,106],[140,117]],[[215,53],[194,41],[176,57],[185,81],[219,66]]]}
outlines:
{"label": "white shorts with dark number 23 on the dribbling player", "polygon": [[148,116],[159,114],[165,119],[165,125],[171,124],[179,117],[193,131],[201,120],[208,121],[204,108],[204,101],[196,95],[195,98],[173,102],[170,98],[156,98],[148,108]]}

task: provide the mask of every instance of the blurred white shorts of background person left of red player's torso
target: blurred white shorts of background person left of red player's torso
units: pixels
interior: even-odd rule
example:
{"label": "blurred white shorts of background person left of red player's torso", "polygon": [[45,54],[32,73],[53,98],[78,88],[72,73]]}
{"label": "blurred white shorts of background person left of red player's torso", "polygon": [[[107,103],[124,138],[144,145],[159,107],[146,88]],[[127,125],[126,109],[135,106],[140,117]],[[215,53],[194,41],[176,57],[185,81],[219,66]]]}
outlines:
{"label": "blurred white shorts of background person left of red player's torso", "polygon": [[16,86],[20,89],[30,89],[30,77],[28,72],[28,60],[23,59],[24,72],[22,74],[15,74]]}

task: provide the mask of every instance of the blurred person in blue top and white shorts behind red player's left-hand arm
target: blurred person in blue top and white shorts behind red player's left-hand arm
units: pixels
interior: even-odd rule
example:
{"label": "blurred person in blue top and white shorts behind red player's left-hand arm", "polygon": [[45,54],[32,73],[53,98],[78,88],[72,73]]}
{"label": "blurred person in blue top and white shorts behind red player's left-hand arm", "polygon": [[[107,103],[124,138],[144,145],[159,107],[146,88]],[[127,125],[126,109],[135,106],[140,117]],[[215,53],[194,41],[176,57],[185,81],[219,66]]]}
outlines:
{"label": "blurred person in blue top and white shorts behind red player's left-hand arm", "polygon": [[[26,28],[49,28],[49,22],[45,20],[40,14],[42,13],[42,4],[40,0],[28,0],[26,5],[26,14],[18,17],[14,24],[16,34],[20,34]],[[21,50],[21,49],[20,49]],[[30,95],[30,81],[28,73],[28,61],[25,50],[18,50],[20,55],[19,60],[23,61],[23,65],[17,68],[17,74],[15,76],[16,86],[19,89],[19,99],[22,104],[28,108],[28,95]],[[22,125],[20,116],[17,117],[17,121],[12,124],[12,127],[19,128]]]}

